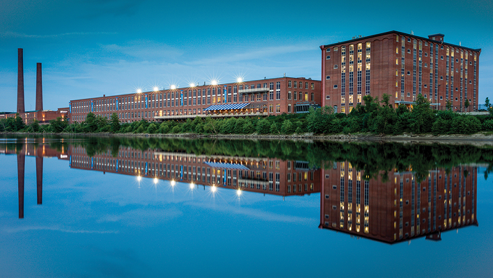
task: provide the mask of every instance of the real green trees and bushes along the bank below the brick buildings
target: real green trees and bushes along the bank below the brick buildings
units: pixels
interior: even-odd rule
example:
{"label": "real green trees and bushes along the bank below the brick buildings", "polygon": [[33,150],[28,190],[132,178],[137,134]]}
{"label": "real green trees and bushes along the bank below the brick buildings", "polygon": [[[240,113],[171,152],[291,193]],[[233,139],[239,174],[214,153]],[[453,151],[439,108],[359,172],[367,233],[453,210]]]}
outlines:
{"label": "real green trees and bushes along the bank below the brick buildings", "polygon": [[[489,107],[489,99],[486,99]],[[200,134],[336,134],[373,133],[398,135],[402,133],[472,134],[493,131],[493,108],[489,115],[464,115],[446,111],[435,111],[427,99],[418,96],[412,109],[405,105],[393,108],[389,95],[382,101],[371,96],[363,97],[349,114],[334,113],[331,107],[311,109],[306,114],[260,117],[230,117],[212,119],[196,117],[184,122],[162,123],[141,120],[121,124],[114,113],[111,119],[88,113],[84,122],[68,124],[61,118],[50,124],[33,122],[26,126],[20,117],[0,121],[0,131],[48,132],[48,133],[200,133]]]}

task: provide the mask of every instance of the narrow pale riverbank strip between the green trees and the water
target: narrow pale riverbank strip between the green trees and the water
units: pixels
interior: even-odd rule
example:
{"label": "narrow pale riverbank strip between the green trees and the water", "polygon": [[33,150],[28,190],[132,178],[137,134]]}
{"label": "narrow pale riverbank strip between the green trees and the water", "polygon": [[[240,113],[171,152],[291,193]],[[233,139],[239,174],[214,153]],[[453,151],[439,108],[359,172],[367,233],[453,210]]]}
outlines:
{"label": "narrow pale riverbank strip between the green trees and the water", "polygon": [[382,142],[433,142],[446,144],[493,145],[493,135],[476,133],[471,135],[402,134],[398,136],[378,136],[370,133],[315,135],[313,133],[275,135],[275,134],[198,134],[198,133],[22,133],[1,132],[15,135],[58,135],[58,136],[127,136],[127,137],[171,137],[171,138],[230,138],[266,140],[332,140],[332,141],[382,141]]}

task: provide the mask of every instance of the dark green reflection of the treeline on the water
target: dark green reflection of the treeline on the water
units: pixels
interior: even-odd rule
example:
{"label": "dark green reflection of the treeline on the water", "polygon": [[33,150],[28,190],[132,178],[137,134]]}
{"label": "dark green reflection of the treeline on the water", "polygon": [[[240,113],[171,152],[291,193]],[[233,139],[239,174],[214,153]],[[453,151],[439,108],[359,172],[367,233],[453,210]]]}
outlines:
{"label": "dark green reflection of the treeline on the water", "polygon": [[[493,170],[493,147],[441,144],[402,144],[389,142],[353,143],[329,141],[290,140],[195,140],[177,138],[135,138],[135,137],[90,137],[83,140],[63,137],[64,140],[50,140],[50,146],[61,150],[69,145],[84,147],[88,156],[110,152],[118,155],[120,147],[146,151],[156,149],[163,152],[195,155],[243,156],[279,158],[281,160],[308,161],[311,167],[330,168],[334,162],[348,161],[356,170],[365,172],[365,179],[379,175],[386,178],[388,173],[398,171],[416,172],[416,177],[427,177],[428,171],[438,167],[450,169],[463,164],[481,163],[489,165],[487,173]],[[12,144],[18,144],[12,143]],[[22,147],[17,146],[17,149]]]}

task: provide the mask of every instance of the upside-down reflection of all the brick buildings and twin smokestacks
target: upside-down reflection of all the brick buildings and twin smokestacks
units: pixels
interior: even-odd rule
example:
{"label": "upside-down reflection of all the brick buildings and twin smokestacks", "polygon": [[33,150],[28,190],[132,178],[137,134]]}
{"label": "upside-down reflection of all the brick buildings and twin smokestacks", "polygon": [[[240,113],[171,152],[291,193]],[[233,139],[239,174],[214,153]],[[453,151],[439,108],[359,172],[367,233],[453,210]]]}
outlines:
{"label": "upside-down reflection of all the brick buildings and twin smokestacks", "polygon": [[[186,183],[191,190],[202,186],[212,193],[228,188],[237,190],[238,197],[242,191],[283,198],[320,193],[319,228],[384,243],[419,237],[440,240],[443,231],[478,225],[478,167],[471,161],[427,171],[396,164],[390,169],[388,164],[361,167],[358,160],[322,161],[317,167],[301,159],[233,156],[229,151],[190,154],[180,148],[124,145],[95,150],[79,143],[43,142],[0,145],[1,153],[17,154],[19,218],[24,218],[25,156],[36,157],[38,204],[42,204],[43,157],[48,156],[67,160],[71,169],[125,174],[139,183],[143,178],[171,186]],[[272,144],[276,142],[268,147]],[[347,152],[358,149],[361,146]]]}

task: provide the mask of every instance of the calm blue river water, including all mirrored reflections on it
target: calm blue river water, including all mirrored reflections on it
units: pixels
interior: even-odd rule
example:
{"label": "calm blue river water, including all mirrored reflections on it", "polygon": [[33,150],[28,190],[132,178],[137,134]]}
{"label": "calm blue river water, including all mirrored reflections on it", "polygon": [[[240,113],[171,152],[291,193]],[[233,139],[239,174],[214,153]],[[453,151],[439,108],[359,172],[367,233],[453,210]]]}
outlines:
{"label": "calm blue river water, including all mirrored reflections on it", "polygon": [[493,273],[492,147],[3,136],[0,165],[1,277]]}

